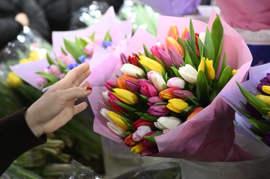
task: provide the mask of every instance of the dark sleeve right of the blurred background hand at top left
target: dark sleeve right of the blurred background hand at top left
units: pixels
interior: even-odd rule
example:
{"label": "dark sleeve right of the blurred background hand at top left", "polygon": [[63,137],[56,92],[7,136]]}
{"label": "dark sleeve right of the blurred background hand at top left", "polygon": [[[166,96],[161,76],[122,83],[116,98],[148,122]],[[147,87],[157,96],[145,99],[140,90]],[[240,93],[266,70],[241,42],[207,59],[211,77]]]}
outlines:
{"label": "dark sleeve right of the blurred background hand at top left", "polygon": [[43,9],[35,0],[22,0],[21,3],[22,12],[26,13],[29,19],[29,27],[51,41],[51,31]]}

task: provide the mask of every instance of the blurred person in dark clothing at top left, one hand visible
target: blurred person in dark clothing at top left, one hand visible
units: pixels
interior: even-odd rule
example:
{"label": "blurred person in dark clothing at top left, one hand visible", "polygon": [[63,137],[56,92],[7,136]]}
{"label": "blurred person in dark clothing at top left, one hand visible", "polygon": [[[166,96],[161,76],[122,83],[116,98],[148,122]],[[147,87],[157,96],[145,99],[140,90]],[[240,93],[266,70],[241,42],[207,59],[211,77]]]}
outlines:
{"label": "blurred person in dark clothing at top left, one hand visible", "polygon": [[0,0],[0,49],[16,39],[23,26],[50,40],[46,16],[35,0]]}

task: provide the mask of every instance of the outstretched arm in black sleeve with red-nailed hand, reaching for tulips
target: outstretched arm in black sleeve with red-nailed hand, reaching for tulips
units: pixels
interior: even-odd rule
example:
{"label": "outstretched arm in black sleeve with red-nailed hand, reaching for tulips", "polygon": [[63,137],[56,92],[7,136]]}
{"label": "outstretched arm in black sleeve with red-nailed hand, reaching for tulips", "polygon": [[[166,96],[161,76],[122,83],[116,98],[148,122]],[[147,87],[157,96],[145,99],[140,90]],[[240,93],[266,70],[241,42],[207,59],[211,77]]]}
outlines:
{"label": "outstretched arm in black sleeve with red-nailed hand, reaching for tulips", "polygon": [[70,70],[28,109],[24,108],[0,119],[0,176],[27,150],[47,141],[46,134],[65,125],[74,115],[87,108],[87,103],[74,105],[78,98],[91,93],[87,63]]}

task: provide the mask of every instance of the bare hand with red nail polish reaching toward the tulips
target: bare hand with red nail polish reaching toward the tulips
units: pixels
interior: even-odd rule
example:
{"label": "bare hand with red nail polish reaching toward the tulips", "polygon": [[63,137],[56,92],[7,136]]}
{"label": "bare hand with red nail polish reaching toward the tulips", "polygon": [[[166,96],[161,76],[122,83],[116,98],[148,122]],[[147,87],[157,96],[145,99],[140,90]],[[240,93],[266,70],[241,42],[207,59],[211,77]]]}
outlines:
{"label": "bare hand with red nail polish reaching toward the tulips", "polygon": [[89,82],[81,83],[91,73],[87,63],[70,70],[66,76],[47,90],[26,112],[26,121],[37,136],[52,133],[65,125],[72,117],[87,108],[82,102],[74,106],[78,98],[91,93]]}

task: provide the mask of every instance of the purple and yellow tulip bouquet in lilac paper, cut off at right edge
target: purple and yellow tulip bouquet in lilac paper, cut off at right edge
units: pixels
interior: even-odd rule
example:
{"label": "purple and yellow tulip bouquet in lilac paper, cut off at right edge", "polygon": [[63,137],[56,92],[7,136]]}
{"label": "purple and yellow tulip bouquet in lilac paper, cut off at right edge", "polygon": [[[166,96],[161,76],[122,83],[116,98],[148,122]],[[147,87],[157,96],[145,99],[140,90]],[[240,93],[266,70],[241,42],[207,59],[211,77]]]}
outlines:
{"label": "purple and yellow tulip bouquet in lilac paper, cut off at right edge", "polygon": [[[252,67],[250,79],[238,88],[232,88],[222,94],[242,118],[237,120],[245,135],[270,146],[270,64]],[[256,75],[252,71],[256,70]]]}

